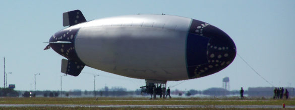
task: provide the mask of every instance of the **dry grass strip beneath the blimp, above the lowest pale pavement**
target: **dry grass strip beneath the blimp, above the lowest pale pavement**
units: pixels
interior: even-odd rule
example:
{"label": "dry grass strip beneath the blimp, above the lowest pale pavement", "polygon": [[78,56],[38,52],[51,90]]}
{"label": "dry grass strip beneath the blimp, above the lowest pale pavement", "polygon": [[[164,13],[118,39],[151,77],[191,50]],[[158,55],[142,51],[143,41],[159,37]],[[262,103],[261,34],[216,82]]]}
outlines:
{"label": "dry grass strip beneath the blimp, above the lowest pale pavement", "polygon": [[94,104],[94,105],[295,105],[295,99],[230,99],[230,98],[171,98],[147,99],[145,97],[99,97],[93,98],[0,98],[0,104]]}

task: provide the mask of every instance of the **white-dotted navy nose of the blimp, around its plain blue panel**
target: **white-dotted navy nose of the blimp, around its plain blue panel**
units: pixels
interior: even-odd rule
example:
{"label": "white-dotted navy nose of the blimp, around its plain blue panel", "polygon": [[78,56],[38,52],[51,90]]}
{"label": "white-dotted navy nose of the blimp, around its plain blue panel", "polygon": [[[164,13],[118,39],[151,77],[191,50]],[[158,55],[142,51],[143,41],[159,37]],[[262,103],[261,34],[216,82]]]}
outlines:
{"label": "white-dotted navy nose of the blimp, around its plain blue panel", "polygon": [[[193,20],[190,32],[203,37],[203,42],[207,42],[206,53],[199,60],[203,63],[189,64],[188,70],[190,78],[197,78],[216,73],[228,66],[237,53],[237,48],[233,40],[221,29],[208,23]],[[206,59],[206,61],[204,61]],[[189,60],[189,59],[188,59]]]}

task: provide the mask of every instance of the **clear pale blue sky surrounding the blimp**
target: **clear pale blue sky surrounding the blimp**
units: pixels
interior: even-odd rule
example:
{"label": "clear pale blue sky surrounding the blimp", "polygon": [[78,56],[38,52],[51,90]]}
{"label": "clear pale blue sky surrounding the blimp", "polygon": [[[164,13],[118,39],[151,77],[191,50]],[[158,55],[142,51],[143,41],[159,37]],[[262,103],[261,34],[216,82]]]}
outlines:
{"label": "clear pale blue sky surrounding the blimp", "polygon": [[[170,89],[204,90],[222,87],[229,77],[230,90],[244,87],[295,87],[295,0],[5,0],[0,3],[0,87],[4,59],[8,84],[16,90],[61,89],[61,59],[53,49],[43,50],[50,36],[65,28],[63,12],[80,9],[86,20],[110,16],[155,13],[208,22],[226,32],[237,54],[223,70],[201,78],[168,81]],[[120,76],[85,67],[77,77],[62,76],[63,90],[93,90],[104,86],[138,89],[144,79]]]}

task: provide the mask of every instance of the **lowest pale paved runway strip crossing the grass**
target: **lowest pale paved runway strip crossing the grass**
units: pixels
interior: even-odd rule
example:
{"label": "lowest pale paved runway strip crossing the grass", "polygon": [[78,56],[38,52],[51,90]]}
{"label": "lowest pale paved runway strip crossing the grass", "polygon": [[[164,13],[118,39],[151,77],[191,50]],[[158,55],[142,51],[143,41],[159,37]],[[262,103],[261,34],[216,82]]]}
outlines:
{"label": "lowest pale paved runway strip crossing the grass", "polygon": [[[89,104],[0,104],[0,107],[171,107],[171,108],[282,108],[282,105],[89,105]],[[295,105],[286,105],[295,108]]]}

